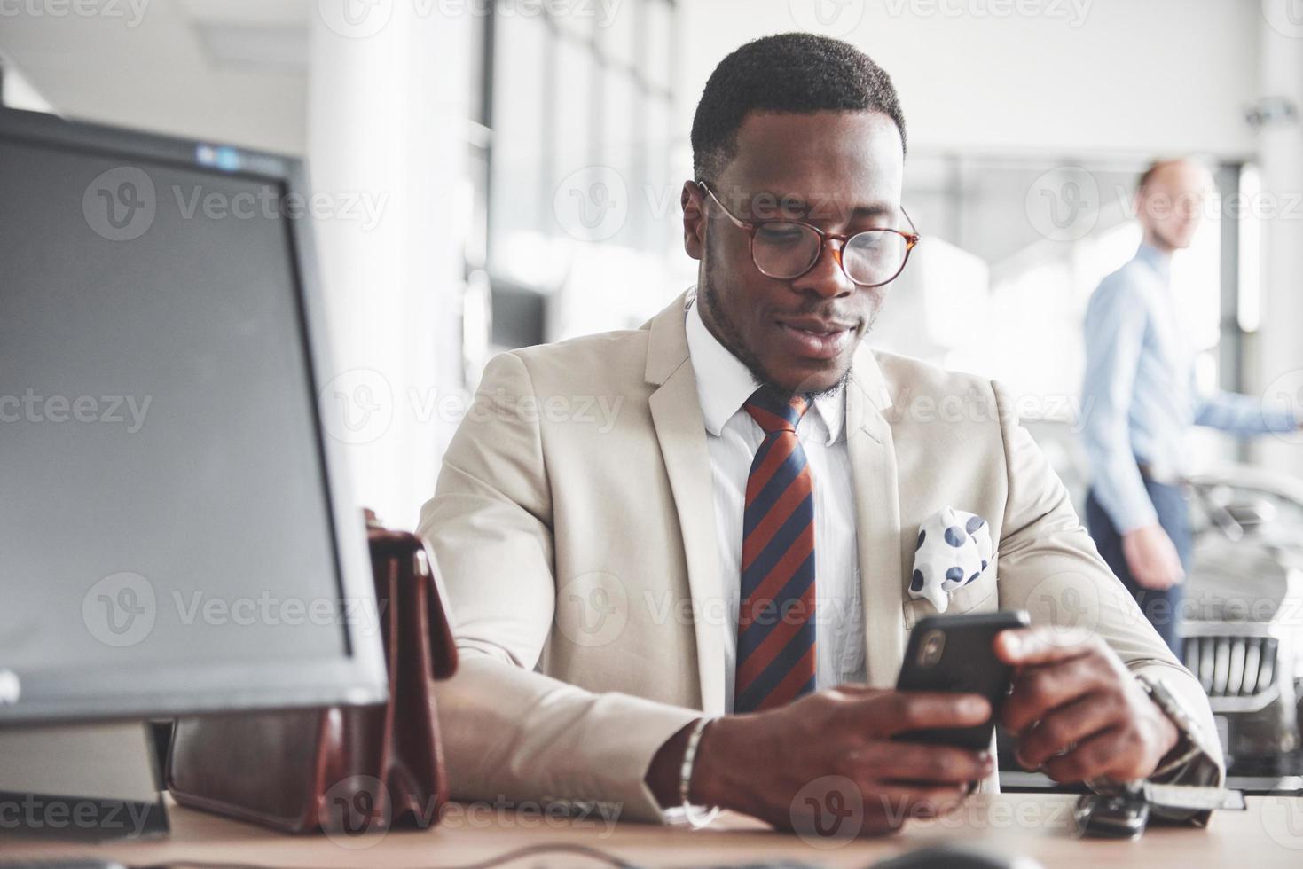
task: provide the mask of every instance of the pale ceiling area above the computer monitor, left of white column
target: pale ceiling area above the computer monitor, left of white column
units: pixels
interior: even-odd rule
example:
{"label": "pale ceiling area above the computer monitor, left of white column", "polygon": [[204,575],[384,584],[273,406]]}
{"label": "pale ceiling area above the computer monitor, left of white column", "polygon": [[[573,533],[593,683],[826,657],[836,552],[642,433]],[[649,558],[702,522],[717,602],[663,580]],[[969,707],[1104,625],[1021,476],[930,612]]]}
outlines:
{"label": "pale ceiling area above the computer monitor, left of white column", "polygon": [[100,0],[104,14],[55,17],[23,4],[0,23],[0,53],[70,117],[301,154],[314,7]]}

